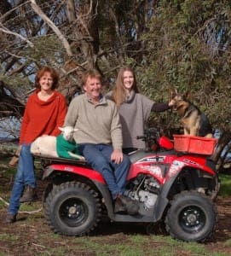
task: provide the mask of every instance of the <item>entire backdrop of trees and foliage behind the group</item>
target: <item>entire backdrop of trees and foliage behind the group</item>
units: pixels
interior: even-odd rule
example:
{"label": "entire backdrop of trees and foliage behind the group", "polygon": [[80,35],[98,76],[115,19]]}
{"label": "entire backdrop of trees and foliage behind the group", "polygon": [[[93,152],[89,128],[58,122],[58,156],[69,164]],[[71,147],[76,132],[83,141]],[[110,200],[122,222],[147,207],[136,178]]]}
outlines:
{"label": "entire backdrop of trees and foliage behind the group", "polygon": [[[193,102],[221,125],[229,121],[230,5],[228,0],[2,0],[0,117],[21,116],[43,65],[59,70],[60,90],[69,102],[81,91],[84,70],[98,69],[110,86],[127,63],[147,96],[167,101],[172,86],[191,90]],[[9,98],[13,108],[5,104]],[[173,116],[155,119],[173,125]]]}

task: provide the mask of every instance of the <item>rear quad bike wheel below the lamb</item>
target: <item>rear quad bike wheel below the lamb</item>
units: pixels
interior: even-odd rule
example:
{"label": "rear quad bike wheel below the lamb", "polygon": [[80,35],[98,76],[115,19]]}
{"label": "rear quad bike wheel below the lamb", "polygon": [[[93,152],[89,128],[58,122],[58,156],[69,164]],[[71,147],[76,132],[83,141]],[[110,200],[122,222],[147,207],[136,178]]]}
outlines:
{"label": "rear quad bike wheel below the lamb", "polygon": [[67,236],[89,233],[101,217],[98,195],[84,183],[67,182],[54,186],[43,207],[51,230]]}

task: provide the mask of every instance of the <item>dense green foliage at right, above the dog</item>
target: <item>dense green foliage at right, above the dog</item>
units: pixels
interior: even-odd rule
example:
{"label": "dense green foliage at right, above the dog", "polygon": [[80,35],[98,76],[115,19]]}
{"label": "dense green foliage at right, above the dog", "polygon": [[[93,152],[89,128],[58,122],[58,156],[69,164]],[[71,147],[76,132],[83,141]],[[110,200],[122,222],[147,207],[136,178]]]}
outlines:
{"label": "dense green foliage at right, above the dog", "polygon": [[159,1],[148,32],[142,35],[148,52],[137,68],[143,92],[161,100],[172,86],[180,92],[189,90],[192,102],[214,127],[228,125],[230,47],[225,49],[222,40],[216,40],[221,39],[221,28],[223,37],[229,38],[230,22],[228,1]]}

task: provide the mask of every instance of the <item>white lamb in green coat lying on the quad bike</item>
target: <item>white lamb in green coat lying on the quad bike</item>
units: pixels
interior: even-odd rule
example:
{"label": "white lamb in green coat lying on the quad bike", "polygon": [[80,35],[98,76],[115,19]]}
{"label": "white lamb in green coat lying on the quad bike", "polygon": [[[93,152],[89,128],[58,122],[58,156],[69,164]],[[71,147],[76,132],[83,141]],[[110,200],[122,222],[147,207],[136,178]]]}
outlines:
{"label": "white lamb in green coat lying on the quad bike", "polygon": [[84,157],[78,154],[77,145],[72,139],[73,134],[78,129],[72,126],[59,127],[62,131],[58,137],[44,135],[38,137],[31,146],[31,153],[49,157],[76,158],[84,160]]}

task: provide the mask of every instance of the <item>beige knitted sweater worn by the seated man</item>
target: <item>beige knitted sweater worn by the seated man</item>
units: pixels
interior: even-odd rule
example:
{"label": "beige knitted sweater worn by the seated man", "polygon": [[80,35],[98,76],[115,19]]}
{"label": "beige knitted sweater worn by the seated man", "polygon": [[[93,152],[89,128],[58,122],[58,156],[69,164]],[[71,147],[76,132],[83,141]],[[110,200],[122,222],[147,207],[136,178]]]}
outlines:
{"label": "beige knitted sweater worn by the seated man", "polygon": [[114,102],[101,98],[94,105],[86,94],[73,98],[66,114],[65,125],[74,126],[76,143],[112,144],[122,148],[122,131],[118,109]]}

